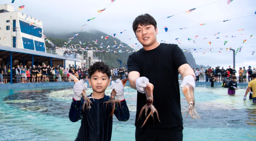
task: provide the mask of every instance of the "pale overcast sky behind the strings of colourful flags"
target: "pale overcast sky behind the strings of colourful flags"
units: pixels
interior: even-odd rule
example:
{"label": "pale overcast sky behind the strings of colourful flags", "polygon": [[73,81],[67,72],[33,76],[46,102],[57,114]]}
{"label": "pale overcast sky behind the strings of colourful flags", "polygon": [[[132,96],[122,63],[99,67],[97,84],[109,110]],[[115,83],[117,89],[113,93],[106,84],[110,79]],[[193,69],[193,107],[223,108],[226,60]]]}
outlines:
{"label": "pale overcast sky behind the strings of colourful flags", "polygon": [[[11,2],[12,0],[0,0],[0,4],[11,4]],[[98,29],[109,35],[116,33],[116,37],[125,43],[138,43],[139,47],[135,48],[138,49],[142,45],[135,39],[131,29],[132,22],[138,15],[148,13],[157,20],[158,41],[165,40],[168,43],[178,44],[175,39],[180,38],[182,42],[178,45],[181,49],[195,48],[198,51],[196,53],[190,49],[196,64],[225,68],[229,65],[233,66],[232,52],[226,51],[225,48],[243,47],[236,55],[236,70],[238,71],[238,67],[248,68],[249,65],[256,67],[256,53],[252,55],[252,51],[256,51],[256,14],[254,14],[256,0],[234,0],[228,5],[227,0],[116,0],[112,4],[111,0],[22,0],[22,2],[27,8],[22,10],[23,13],[29,12],[33,18],[43,21],[44,33],[78,32],[81,25],[89,23],[84,27],[84,31]],[[23,5],[22,2],[15,0],[11,5],[17,11],[17,7]],[[215,3],[210,4],[212,2]],[[104,8],[106,10],[98,14],[97,10]],[[197,9],[185,14],[185,11],[192,8]],[[167,18],[172,15],[175,16]],[[245,16],[250,17],[240,18]],[[96,19],[87,22],[94,17]],[[221,22],[223,20],[230,21]],[[199,23],[206,25],[197,26]],[[168,27],[168,32],[164,32],[165,26]],[[185,27],[187,28],[180,30]],[[236,31],[238,29],[246,30]],[[120,34],[121,31],[124,33]],[[220,33],[214,36],[218,32]],[[196,35],[199,36],[194,39]],[[228,37],[224,37],[226,35]],[[236,37],[232,38],[232,35]],[[250,39],[250,35],[254,36]],[[188,38],[192,40],[188,41]],[[202,41],[203,38],[208,39]],[[243,44],[244,39],[247,41]],[[211,45],[208,44],[209,41]],[[224,41],[228,41],[226,45]],[[209,48],[214,52],[212,53]],[[221,50],[223,53],[216,52],[220,51],[220,48],[223,48]],[[203,54],[205,51],[206,53]]]}

